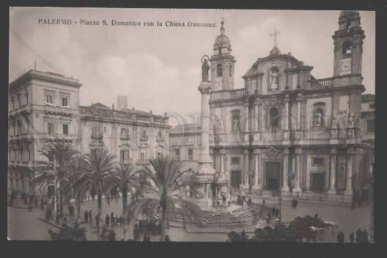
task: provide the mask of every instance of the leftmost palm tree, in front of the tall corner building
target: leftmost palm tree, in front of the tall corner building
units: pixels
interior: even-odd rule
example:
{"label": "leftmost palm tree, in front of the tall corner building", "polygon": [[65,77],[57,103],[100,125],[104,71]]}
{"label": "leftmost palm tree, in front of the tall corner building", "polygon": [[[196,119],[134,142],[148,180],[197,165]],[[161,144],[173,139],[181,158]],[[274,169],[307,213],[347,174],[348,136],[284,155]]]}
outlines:
{"label": "leftmost palm tree, in front of the tall corner building", "polygon": [[[54,144],[47,144],[38,153],[45,157],[46,160],[38,161],[36,164],[36,177],[33,179],[33,184],[40,189],[44,189],[47,185],[55,184],[58,180],[59,200],[60,200],[60,214],[63,214],[63,196],[66,195],[69,188],[64,179],[68,174],[66,164],[70,162],[77,151],[73,149],[71,144],[64,142],[55,142]],[[56,185],[55,185],[56,187]],[[55,194],[57,194],[55,192]]]}

